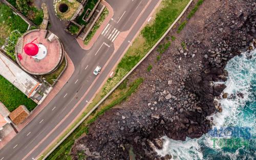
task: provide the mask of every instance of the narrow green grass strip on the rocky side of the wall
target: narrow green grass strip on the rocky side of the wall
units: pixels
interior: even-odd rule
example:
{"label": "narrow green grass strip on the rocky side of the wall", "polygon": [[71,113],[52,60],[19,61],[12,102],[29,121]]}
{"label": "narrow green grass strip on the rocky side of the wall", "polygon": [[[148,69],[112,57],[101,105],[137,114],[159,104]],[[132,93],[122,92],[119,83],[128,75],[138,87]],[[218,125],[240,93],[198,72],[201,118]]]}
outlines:
{"label": "narrow green grass strip on the rocky side of the wall", "polygon": [[[83,121],[80,126],[74,130],[74,132],[65,140],[62,142],[61,145],[59,145],[53,152],[50,154],[47,159],[48,160],[55,160],[55,159],[70,159],[69,152],[71,149],[71,146],[74,144],[75,140],[79,138],[82,134],[88,133],[90,124],[92,124],[99,116],[101,116],[105,111],[111,109],[117,104],[120,104],[122,101],[126,100],[129,96],[132,95],[132,93],[135,92],[135,90],[139,87],[139,85],[143,82],[142,78],[136,79],[134,82],[132,82],[129,87],[126,87],[127,81],[123,82],[120,87],[118,87],[114,93],[105,100],[105,105],[101,105],[99,109],[94,113],[93,116],[89,117],[85,121]],[[122,94],[119,94],[122,93]],[[118,95],[114,98],[114,100],[111,98],[114,95]],[[106,102],[110,101],[110,102]]]}

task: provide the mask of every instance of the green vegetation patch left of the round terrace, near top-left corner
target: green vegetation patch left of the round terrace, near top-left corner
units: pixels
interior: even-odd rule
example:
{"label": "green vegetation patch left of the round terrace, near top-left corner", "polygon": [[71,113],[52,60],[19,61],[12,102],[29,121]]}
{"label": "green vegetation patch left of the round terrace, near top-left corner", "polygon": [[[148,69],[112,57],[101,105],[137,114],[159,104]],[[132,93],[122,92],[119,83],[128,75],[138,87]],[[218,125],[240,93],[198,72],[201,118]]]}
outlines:
{"label": "green vegetation patch left of the round terrace, near top-left corner", "polygon": [[0,13],[0,45],[4,44],[11,31],[18,30],[20,33],[27,31],[28,24],[14,14],[7,5],[0,3]]}

